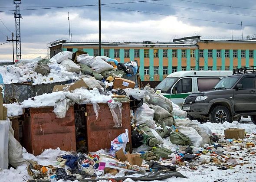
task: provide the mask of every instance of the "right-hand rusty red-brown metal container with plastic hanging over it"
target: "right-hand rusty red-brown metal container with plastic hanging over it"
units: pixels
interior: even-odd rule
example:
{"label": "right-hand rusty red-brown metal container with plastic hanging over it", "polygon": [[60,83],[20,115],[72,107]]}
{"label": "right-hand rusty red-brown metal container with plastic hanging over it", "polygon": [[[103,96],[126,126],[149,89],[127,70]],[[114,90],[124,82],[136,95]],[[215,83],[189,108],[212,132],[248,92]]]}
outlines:
{"label": "right-hand rusty red-brown metal container with plastic hanging over it", "polygon": [[96,119],[92,104],[86,104],[86,134],[87,147],[89,152],[95,152],[99,149],[110,149],[111,141],[121,133],[125,133],[125,129],[129,131],[129,143],[131,150],[131,120],[130,120],[130,104],[122,103],[122,127],[113,127],[115,125],[111,111],[107,103],[98,103],[100,110],[98,119]]}

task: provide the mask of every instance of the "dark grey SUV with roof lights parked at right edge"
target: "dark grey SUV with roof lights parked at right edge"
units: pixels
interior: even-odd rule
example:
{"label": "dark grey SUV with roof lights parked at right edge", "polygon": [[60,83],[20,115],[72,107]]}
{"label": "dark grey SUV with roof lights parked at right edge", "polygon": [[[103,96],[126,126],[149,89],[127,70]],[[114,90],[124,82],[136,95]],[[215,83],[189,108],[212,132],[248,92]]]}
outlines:
{"label": "dark grey SUV with roof lights parked at right edge", "polygon": [[190,119],[214,123],[250,116],[256,124],[256,66],[233,69],[211,91],[190,94],[184,104]]}

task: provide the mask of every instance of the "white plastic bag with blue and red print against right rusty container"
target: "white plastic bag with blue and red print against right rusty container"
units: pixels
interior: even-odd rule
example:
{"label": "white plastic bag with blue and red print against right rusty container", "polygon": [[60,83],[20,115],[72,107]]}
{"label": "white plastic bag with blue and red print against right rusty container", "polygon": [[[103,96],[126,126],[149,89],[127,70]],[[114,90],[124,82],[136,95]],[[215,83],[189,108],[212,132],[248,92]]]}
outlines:
{"label": "white plastic bag with blue and red print against right rusty container", "polygon": [[128,130],[125,129],[125,133],[120,134],[114,140],[111,141],[111,148],[109,151],[110,154],[112,156],[115,156],[115,153],[120,149],[123,149],[125,153],[125,147],[127,142],[129,142],[129,133]]}

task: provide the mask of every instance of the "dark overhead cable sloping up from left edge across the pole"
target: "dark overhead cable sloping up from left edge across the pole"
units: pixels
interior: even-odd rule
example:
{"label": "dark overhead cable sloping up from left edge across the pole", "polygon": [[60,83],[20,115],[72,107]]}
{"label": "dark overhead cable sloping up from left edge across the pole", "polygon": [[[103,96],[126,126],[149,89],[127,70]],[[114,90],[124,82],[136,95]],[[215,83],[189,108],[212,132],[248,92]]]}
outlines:
{"label": "dark overhead cable sloping up from left edge across the pole", "polygon": [[[105,3],[105,4],[102,4],[102,5],[143,3],[143,2],[151,2],[151,1],[162,1],[162,0],[144,0],[144,1],[122,2],[122,3]],[[48,10],[48,9],[68,8],[68,7],[92,7],[92,6],[96,6],[96,5],[91,4],[91,5],[78,5],[78,6],[65,6],[65,7],[34,8],[34,9],[24,9],[24,10],[20,10],[20,11],[25,11],[25,10]],[[15,10],[3,10],[3,11],[0,11],[0,12],[10,12],[10,11],[15,11]]]}

